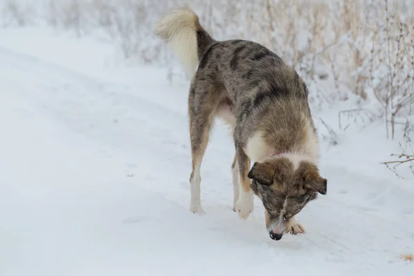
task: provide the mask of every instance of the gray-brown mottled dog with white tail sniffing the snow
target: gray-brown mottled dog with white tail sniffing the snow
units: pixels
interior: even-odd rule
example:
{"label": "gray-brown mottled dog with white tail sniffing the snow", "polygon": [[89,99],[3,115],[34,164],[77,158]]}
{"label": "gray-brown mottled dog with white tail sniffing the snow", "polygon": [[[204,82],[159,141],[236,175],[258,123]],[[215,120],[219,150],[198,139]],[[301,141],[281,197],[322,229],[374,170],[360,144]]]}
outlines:
{"label": "gray-brown mottled dog with white tail sniffing the snow", "polygon": [[155,33],[191,76],[190,211],[204,213],[200,166],[218,117],[230,126],[235,143],[233,210],[247,219],[257,195],[271,239],[305,233],[295,215],[317,195],[326,195],[327,179],[317,167],[319,141],[304,81],[259,43],[213,39],[188,8],[168,12]]}

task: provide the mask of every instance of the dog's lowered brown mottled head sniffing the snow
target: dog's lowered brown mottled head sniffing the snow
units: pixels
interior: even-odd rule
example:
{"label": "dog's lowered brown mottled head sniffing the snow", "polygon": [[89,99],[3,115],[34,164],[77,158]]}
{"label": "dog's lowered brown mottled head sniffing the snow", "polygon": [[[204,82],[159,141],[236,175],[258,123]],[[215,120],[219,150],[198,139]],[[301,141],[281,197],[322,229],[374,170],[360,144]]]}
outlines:
{"label": "dog's lowered brown mottled head sniffing the snow", "polygon": [[289,231],[288,221],[299,213],[317,194],[326,195],[327,180],[319,175],[315,164],[280,157],[255,163],[248,173],[252,189],[262,199],[266,228],[272,239],[279,240]]}

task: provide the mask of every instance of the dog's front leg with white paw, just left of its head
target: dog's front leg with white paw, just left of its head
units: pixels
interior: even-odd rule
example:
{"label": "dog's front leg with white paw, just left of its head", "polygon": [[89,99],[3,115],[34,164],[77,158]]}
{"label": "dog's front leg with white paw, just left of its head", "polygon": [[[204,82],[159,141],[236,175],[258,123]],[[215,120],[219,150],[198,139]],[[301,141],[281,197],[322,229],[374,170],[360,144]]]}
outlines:
{"label": "dog's front leg with white paw, just left of its head", "polygon": [[239,216],[247,219],[253,212],[253,190],[251,188],[250,179],[247,177],[250,170],[250,158],[244,153],[242,148],[236,149],[237,164],[239,165],[239,179],[242,189],[240,189],[239,199],[236,202],[235,209]]}

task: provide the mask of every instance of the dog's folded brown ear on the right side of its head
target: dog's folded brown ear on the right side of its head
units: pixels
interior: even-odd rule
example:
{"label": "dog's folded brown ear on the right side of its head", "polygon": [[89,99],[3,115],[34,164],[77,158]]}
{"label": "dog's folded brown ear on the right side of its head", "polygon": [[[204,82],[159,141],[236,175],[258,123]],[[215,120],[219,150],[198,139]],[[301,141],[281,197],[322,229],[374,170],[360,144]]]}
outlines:
{"label": "dog's folded brown ear on the right side of its head", "polygon": [[305,189],[326,195],[328,180],[319,175],[317,166],[308,162],[302,162],[297,171]]}

